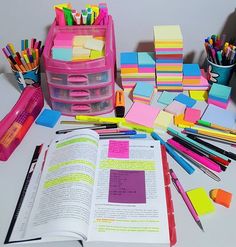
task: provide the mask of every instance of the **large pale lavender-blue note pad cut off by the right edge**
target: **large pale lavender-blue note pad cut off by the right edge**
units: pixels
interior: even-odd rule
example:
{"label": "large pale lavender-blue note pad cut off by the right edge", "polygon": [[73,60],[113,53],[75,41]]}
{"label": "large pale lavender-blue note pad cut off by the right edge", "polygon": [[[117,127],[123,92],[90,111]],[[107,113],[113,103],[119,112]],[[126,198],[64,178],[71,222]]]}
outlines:
{"label": "large pale lavender-blue note pad cut off by the right edge", "polygon": [[217,124],[225,128],[235,129],[236,113],[209,104],[201,120]]}

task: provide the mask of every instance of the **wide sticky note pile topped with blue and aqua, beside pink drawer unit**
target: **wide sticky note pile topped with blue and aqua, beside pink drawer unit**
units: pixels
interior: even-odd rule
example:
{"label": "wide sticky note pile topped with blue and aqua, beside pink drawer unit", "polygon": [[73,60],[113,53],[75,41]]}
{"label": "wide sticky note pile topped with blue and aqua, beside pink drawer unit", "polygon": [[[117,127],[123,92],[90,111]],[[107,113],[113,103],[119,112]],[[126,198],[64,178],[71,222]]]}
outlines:
{"label": "wide sticky note pile topped with blue and aqua, beside pink drawer unit", "polygon": [[121,80],[124,90],[131,90],[137,82],[155,86],[155,60],[153,52],[121,52]]}

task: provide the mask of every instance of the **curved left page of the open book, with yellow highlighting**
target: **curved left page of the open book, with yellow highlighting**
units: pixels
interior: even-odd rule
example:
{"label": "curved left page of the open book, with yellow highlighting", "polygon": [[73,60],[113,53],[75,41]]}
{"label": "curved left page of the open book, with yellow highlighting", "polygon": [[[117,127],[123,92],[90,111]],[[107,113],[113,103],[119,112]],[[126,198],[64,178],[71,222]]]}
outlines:
{"label": "curved left page of the open book, with yellow highlighting", "polygon": [[26,236],[86,239],[99,136],[61,135],[49,146]]}

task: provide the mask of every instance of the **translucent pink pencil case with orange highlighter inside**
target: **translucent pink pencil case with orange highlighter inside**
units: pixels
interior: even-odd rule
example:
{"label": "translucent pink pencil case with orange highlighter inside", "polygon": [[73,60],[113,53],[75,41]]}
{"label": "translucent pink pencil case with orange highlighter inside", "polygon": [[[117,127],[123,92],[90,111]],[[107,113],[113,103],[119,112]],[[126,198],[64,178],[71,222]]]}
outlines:
{"label": "translucent pink pencil case with orange highlighter inside", "polygon": [[21,143],[44,105],[40,87],[27,86],[11,111],[0,121],[0,160],[7,160]]}

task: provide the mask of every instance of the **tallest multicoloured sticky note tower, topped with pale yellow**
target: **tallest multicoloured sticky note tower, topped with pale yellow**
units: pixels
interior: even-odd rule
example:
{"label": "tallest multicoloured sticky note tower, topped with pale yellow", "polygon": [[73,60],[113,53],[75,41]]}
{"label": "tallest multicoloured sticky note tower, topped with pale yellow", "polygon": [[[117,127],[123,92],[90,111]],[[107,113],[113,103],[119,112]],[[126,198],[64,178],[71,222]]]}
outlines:
{"label": "tallest multicoloured sticky note tower, topped with pale yellow", "polygon": [[179,25],[154,26],[157,89],[182,91],[183,37]]}

